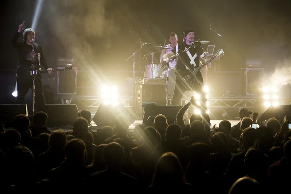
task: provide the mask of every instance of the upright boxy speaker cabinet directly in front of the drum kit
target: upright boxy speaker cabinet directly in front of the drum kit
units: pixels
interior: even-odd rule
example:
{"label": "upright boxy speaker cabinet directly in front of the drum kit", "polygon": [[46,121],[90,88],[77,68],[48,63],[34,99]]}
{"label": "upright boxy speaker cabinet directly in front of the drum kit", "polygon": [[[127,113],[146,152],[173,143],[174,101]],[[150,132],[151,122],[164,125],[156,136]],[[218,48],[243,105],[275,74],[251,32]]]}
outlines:
{"label": "upright boxy speaker cabinet directly in front of the drum kit", "polygon": [[143,118],[142,103],[156,102],[157,105],[166,105],[166,86],[162,84],[136,84],[135,88],[136,112],[139,119]]}

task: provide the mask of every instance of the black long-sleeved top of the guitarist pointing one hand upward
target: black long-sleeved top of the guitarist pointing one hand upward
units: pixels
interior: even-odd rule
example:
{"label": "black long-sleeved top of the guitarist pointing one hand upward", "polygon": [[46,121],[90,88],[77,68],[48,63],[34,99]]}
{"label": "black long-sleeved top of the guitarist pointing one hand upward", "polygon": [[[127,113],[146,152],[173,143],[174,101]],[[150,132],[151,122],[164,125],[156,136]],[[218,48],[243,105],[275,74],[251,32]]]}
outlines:
{"label": "black long-sleeved top of the guitarist pointing one hand upward", "polygon": [[[16,32],[12,39],[12,44],[14,48],[18,52],[19,57],[19,65],[26,65],[31,66],[32,65],[32,46],[26,44],[26,42],[18,42],[20,33]],[[45,68],[48,69],[47,62],[45,60],[45,57],[43,55],[42,47],[37,44],[33,43],[34,45],[34,65],[39,65],[38,63],[38,56],[37,53],[40,53],[40,64]]]}

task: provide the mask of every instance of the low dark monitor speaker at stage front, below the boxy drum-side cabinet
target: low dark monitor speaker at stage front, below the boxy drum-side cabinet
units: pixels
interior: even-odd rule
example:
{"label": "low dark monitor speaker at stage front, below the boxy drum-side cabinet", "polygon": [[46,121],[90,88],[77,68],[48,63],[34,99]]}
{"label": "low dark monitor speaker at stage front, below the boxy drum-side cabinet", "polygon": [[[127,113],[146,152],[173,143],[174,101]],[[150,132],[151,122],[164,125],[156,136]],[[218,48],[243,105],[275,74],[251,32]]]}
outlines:
{"label": "low dark monitor speaker at stage front, below the boxy drum-side cabinet", "polygon": [[155,117],[159,114],[162,114],[165,117],[169,117],[169,118],[171,116],[174,116],[173,123],[176,123],[176,115],[182,107],[183,106],[162,106],[162,105],[155,105],[155,104],[146,106],[144,116],[143,116],[143,124],[151,125],[151,123],[148,123],[149,117]]}

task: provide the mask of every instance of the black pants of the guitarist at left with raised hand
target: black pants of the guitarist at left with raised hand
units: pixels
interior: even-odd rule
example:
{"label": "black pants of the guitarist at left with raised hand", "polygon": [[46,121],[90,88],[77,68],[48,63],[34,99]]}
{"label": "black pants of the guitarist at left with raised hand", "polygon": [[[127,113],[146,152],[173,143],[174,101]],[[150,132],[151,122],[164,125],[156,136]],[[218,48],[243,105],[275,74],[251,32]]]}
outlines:
{"label": "black pants of the guitarist at left with raised hand", "polygon": [[[32,80],[22,82],[17,79],[17,104],[24,104],[25,96],[29,89],[32,89]],[[35,111],[44,111],[44,104],[46,103],[41,79],[35,80]]]}

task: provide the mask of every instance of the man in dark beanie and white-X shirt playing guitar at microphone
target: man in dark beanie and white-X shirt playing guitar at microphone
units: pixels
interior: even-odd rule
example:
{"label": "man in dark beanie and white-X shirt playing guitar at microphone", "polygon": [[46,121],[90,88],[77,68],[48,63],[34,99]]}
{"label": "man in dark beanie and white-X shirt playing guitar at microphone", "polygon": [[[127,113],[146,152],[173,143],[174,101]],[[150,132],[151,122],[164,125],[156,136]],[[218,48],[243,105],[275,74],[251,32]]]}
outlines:
{"label": "man in dark beanie and white-X shirt playing guitar at microphone", "polygon": [[[195,43],[194,38],[195,38],[195,33],[191,29],[186,29],[183,31],[184,34],[184,42],[180,43],[178,45],[178,52],[176,52],[176,49],[173,49],[172,51],[164,54],[163,58],[166,61],[169,57],[175,55],[176,53],[183,52],[179,58],[178,62],[176,65],[176,70],[181,70],[181,71],[187,71],[187,70],[194,70],[196,67],[200,65],[200,61],[202,64],[206,63],[206,57],[205,54],[203,53],[203,49],[201,47],[201,44],[199,42]],[[191,47],[192,46],[192,47]],[[191,47],[190,49],[187,49]],[[210,67],[210,64],[208,64]],[[201,72],[198,72],[196,74],[196,81],[194,84],[193,91],[197,92],[200,94],[200,102],[201,102],[201,107],[206,110],[206,97],[205,97],[205,92],[203,90],[204,88],[204,81]],[[171,100],[171,105],[178,105],[179,101],[183,97],[183,94],[185,93],[187,89],[185,86],[181,83],[181,81],[176,78],[175,82],[175,88],[174,88],[174,94]],[[201,113],[203,110],[201,110]]]}

